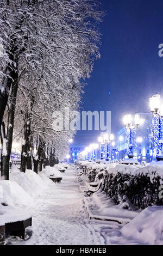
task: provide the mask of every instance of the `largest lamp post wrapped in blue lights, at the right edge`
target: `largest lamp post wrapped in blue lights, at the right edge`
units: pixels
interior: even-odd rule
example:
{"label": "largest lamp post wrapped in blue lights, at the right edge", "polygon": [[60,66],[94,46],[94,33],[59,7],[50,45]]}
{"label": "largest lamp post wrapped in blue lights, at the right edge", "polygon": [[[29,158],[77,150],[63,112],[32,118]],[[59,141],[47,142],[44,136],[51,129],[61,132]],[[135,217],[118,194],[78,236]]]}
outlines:
{"label": "largest lamp post wrapped in blue lights, at the right edge", "polygon": [[163,160],[162,131],[163,131],[163,107],[161,106],[160,94],[149,98],[149,105],[153,114],[152,118],[152,150],[156,160]]}

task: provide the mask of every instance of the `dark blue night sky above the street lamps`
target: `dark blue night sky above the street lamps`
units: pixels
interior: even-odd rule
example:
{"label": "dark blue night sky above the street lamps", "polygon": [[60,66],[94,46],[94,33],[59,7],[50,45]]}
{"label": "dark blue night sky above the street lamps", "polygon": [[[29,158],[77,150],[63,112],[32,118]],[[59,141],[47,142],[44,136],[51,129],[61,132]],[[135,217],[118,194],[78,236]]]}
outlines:
{"label": "dark blue night sky above the street lamps", "polygon": [[[163,1],[101,0],[101,59],[86,80],[81,110],[111,111],[117,133],[126,113],[149,111],[148,98],[162,93]],[[109,94],[110,93],[110,94]],[[78,131],[74,145],[97,141],[97,131]]]}

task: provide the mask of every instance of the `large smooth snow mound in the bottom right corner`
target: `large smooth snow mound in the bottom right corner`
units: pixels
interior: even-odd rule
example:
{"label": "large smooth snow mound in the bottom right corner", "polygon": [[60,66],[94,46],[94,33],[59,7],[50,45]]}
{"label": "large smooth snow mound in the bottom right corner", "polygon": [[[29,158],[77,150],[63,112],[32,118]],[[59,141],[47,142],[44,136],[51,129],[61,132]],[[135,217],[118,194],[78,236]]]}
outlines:
{"label": "large smooth snow mound in the bottom right corner", "polygon": [[142,244],[163,245],[163,206],[152,206],[143,210],[121,233],[124,237],[140,241]]}

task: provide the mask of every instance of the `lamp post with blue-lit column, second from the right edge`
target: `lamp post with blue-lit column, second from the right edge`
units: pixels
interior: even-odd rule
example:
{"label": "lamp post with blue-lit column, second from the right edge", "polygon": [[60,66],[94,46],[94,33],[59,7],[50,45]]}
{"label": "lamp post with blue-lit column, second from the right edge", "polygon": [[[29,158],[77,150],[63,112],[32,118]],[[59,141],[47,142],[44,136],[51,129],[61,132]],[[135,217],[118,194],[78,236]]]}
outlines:
{"label": "lamp post with blue-lit column, second from the right edge", "polygon": [[123,117],[123,124],[126,127],[127,155],[129,158],[133,158],[137,153],[136,129],[139,126],[139,122],[139,114],[135,114],[135,125],[132,125],[131,114],[124,115]]}

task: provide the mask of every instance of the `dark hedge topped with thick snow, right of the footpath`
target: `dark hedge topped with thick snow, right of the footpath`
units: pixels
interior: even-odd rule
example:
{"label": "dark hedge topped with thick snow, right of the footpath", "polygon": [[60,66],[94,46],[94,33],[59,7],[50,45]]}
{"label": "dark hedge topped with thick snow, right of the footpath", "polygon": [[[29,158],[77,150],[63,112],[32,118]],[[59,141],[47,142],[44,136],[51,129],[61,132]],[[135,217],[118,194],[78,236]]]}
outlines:
{"label": "dark hedge topped with thick snow, right of the footpath", "polygon": [[90,182],[103,179],[102,190],[119,204],[124,198],[139,208],[162,205],[159,187],[163,184],[163,166],[119,163],[79,162],[80,170]]}

